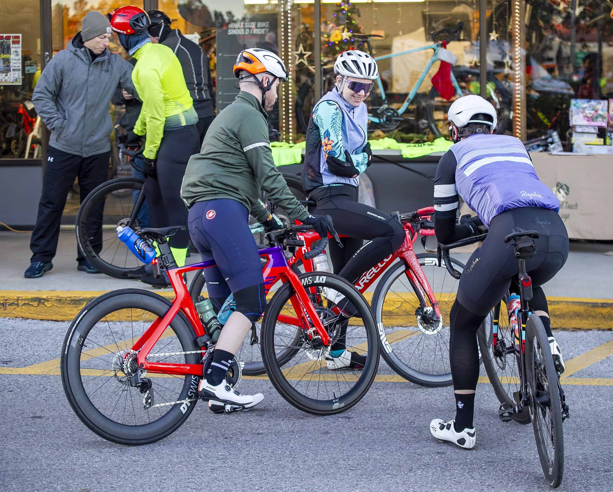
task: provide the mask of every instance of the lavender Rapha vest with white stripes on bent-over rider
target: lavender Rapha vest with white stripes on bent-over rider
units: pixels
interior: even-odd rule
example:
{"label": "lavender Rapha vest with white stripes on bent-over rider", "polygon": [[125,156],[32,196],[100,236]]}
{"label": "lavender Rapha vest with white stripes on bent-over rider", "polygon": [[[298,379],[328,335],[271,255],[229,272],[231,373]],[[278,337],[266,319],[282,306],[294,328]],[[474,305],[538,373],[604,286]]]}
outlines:
{"label": "lavender Rapha vest with white stripes on bent-over rider", "polygon": [[486,226],[504,210],[560,210],[560,201],[538,179],[524,144],[509,135],[473,135],[450,148],[457,160],[455,188]]}

